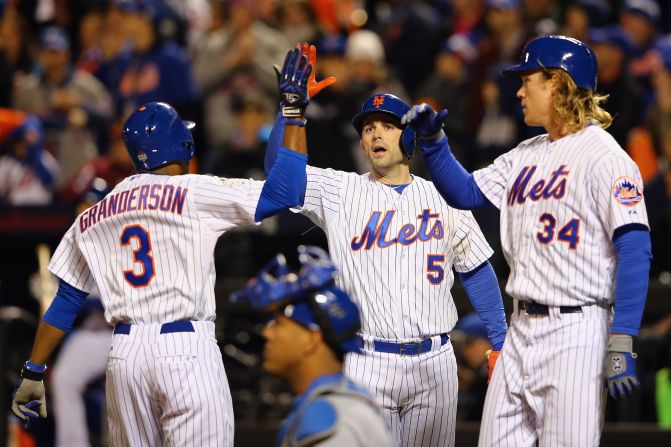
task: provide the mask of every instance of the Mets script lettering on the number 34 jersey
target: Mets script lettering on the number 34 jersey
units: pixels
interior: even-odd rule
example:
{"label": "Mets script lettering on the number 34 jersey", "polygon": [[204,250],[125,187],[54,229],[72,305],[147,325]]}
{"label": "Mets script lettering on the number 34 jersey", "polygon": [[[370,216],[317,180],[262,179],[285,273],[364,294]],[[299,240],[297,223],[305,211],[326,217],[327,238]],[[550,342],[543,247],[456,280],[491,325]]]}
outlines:
{"label": "Mets script lettering on the number 34 jersey", "polygon": [[540,179],[529,187],[536,166],[525,166],[513,183],[508,193],[508,205],[522,204],[527,199],[534,202],[540,199],[561,199],[566,194],[566,176],[570,172],[566,165],[552,171],[549,179]]}

